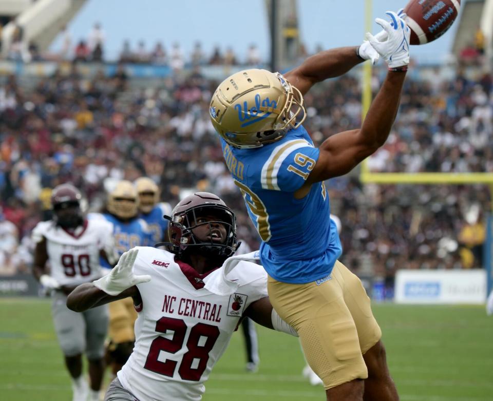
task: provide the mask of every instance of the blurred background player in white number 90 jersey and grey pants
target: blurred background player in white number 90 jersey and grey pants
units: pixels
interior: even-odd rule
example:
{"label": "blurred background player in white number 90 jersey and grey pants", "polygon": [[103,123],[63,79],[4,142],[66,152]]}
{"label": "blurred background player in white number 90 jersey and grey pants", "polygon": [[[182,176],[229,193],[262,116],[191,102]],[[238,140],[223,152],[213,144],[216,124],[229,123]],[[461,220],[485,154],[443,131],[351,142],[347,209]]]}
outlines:
{"label": "blurred background player in white number 90 jersey and grey pants", "polygon": [[[77,285],[104,274],[100,257],[113,264],[118,258],[113,254],[111,224],[104,220],[87,220],[81,210],[81,200],[81,193],[71,184],[53,189],[53,218],[38,223],[32,231],[36,244],[33,274],[51,292],[56,337],[72,379],[72,400],[87,401],[89,396],[90,401],[99,401],[108,310],[101,307],[74,313],[67,308],[66,301]],[[82,374],[83,353],[88,360],[90,388]]]}

